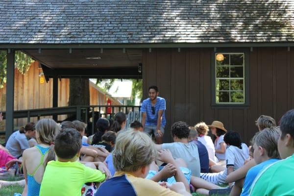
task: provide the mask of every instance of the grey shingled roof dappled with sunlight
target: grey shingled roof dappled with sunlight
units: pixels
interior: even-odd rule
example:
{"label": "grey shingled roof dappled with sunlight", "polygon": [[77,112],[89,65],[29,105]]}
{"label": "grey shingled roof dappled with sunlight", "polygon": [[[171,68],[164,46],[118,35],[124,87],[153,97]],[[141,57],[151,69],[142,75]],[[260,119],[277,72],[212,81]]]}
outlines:
{"label": "grey shingled roof dappled with sunlight", "polygon": [[294,42],[294,0],[0,0],[0,44]]}

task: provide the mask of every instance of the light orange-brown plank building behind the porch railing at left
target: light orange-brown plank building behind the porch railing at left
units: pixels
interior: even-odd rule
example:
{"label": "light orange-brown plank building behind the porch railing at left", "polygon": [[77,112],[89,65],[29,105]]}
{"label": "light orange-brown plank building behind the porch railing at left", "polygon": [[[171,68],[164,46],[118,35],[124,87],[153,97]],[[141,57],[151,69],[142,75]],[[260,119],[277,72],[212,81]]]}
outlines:
{"label": "light orange-brown plank building behind the porch railing at left", "polygon": [[[21,74],[15,69],[15,85],[14,85],[14,110],[38,109],[52,107],[52,88],[53,80],[48,83],[40,83],[39,62],[35,61],[31,64],[29,70],[25,74]],[[58,106],[68,106],[69,101],[69,79],[62,78],[58,80]],[[90,104],[106,105],[106,96],[104,93],[90,85]],[[120,105],[119,101],[111,98],[113,105]],[[0,89],[0,111],[5,111],[6,105],[6,86]],[[66,118],[65,115],[58,116],[59,120]],[[31,122],[37,122],[37,118],[31,118]],[[27,123],[27,119],[17,119],[14,126],[23,126]],[[4,130],[4,121],[0,123],[0,130]]]}

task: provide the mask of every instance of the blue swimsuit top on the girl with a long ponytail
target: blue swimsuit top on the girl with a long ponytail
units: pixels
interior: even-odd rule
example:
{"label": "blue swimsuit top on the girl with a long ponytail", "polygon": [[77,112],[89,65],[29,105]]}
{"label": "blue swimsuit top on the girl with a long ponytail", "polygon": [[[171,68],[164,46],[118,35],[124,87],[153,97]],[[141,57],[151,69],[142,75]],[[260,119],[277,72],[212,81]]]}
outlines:
{"label": "blue swimsuit top on the girl with a long ponytail", "polygon": [[41,153],[41,160],[39,165],[36,167],[33,173],[28,173],[27,172],[27,196],[39,196],[40,194],[40,187],[41,184],[39,184],[35,180],[35,173],[39,169],[39,167],[44,163],[44,157],[47,154],[49,147],[41,147],[40,145],[35,146],[36,148],[39,149]]}

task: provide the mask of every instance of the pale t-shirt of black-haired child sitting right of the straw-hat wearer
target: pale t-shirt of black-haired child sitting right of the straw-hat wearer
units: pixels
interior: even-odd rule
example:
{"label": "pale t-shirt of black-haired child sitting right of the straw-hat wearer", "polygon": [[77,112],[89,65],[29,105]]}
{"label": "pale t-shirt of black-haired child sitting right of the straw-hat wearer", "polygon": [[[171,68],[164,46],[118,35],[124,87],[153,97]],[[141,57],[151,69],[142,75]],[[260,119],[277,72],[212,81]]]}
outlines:
{"label": "pale t-shirt of black-haired child sitting right of the straw-hat wearer", "polygon": [[242,143],[241,148],[235,146],[228,146],[225,150],[226,169],[218,175],[218,181],[220,183],[226,183],[225,178],[228,175],[227,167],[234,167],[234,171],[238,170],[244,165],[246,159],[249,158],[248,147]]}

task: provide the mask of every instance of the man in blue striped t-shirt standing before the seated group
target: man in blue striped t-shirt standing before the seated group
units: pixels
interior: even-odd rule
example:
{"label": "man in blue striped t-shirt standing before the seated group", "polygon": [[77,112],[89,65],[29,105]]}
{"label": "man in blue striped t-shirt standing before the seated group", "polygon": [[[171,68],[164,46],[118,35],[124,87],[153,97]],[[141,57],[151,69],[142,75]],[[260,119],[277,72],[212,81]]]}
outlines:
{"label": "man in blue striped t-shirt standing before the seated group", "polygon": [[145,99],[141,106],[142,125],[144,132],[155,136],[156,143],[162,144],[164,127],[166,125],[165,110],[166,101],[164,98],[158,97],[159,92],[157,86],[149,87],[149,98]]}

